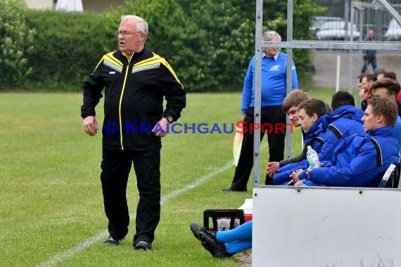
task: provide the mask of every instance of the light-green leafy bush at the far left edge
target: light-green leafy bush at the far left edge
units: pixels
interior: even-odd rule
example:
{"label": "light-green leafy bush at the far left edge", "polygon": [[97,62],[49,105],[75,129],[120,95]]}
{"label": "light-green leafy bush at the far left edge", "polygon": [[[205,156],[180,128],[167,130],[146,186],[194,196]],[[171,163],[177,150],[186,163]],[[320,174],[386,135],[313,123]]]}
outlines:
{"label": "light-green leafy bush at the far left edge", "polygon": [[0,0],[0,6],[0,88],[18,88],[32,71],[34,30],[25,23],[25,1]]}

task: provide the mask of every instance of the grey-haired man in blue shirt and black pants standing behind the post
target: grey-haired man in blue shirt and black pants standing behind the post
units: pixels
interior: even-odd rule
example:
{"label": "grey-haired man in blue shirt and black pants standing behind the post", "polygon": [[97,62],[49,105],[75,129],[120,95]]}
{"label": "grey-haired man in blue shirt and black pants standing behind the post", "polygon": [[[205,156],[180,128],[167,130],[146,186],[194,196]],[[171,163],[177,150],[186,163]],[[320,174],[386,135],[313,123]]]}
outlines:
{"label": "grey-haired man in blue shirt and black pants standing behind the post", "polygon": [[[267,31],[263,34],[263,41],[281,41],[281,36],[274,31]],[[286,97],[286,68],[287,55],[282,53],[279,48],[262,48],[262,102],[260,118],[261,125],[267,124],[260,131],[262,139],[267,133],[269,142],[269,162],[279,162],[284,159],[284,143],[286,137],[285,127],[277,129],[276,126],[286,124],[286,114],[281,109],[281,104]],[[248,71],[243,82],[242,95],[242,121],[243,143],[238,166],[236,167],[231,187],[224,188],[222,191],[246,191],[250,171],[253,168],[253,131],[250,124],[254,123],[255,108],[255,65],[256,57],[250,60]],[[298,77],[295,64],[292,62],[292,88],[298,89]],[[272,131],[273,128],[273,131]],[[266,184],[272,184],[272,178],[266,177]]]}

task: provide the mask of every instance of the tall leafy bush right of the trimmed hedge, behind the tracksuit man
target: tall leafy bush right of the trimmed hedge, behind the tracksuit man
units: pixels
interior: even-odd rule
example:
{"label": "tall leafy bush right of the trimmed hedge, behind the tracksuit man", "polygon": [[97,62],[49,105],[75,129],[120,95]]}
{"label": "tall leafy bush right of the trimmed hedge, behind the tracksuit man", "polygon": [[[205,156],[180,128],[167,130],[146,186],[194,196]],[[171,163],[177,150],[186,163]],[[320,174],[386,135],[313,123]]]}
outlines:
{"label": "tall leafy bush right of the trimmed hedge, behind the tracksuit man", "polygon": [[[317,0],[294,1],[294,38],[310,39],[309,27],[321,9]],[[264,30],[286,40],[286,1],[264,1]],[[255,1],[136,0],[108,13],[110,34],[121,14],[149,22],[147,45],[172,62],[188,91],[241,88],[255,53]],[[309,51],[294,51],[299,77],[310,73]]]}

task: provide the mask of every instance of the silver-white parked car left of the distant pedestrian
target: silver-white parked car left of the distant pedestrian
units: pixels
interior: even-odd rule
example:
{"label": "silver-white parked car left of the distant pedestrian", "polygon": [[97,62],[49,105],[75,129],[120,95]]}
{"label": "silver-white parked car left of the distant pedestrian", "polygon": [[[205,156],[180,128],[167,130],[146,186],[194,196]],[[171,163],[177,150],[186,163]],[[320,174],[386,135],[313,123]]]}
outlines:
{"label": "silver-white parked car left of the distant pedestrian", "polygon": [[[345,26],[347,30],[345,30]],[[351,23],[340,21],[327,21],[324,22],[321,29],[316,33],[316,39],[319,41],[344,41],[350,39],[351,34]],[[357,30],[357,25],[353,25],[353,39],[359,39],[360,33]]]}

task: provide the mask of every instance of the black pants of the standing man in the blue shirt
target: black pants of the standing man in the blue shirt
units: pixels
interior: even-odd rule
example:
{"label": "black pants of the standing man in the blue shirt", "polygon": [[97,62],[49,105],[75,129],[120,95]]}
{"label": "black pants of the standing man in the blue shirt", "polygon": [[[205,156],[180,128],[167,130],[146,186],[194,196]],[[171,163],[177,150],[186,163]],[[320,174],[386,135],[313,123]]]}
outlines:
{"label": "black pants of the standing man in the blue shirt", "polygon": [[[260,118],[261,126],[263,124],[269,124],[269,126],[265,127],[265,131],[267,131],[267,141],[269,143],[269,162],[279,162],[281,159],[284,159],[284,145],[286,128],[284,127],[284,133],[281,131],[276,131],[276,127],[280,125],[286,124],[286,114],[283,112],[280,106],[268,106],[261,108],[262,117]],[[248,127],[248,131],[243,133],[243,142],[241,148],[241,155],[239,156],[238,166],[235,169],[235,174],[233,181],[231,183],[231,188],[234,190],[245,190],[246,185],[249,180],[250,171],[252,171],[253,167],[253,133],[250,133],[249,128],[251,123],[254,123],[254,109],[248,108],[246,110],[245,122],[247,124],[245,126]],[[271,128],[270,125],[273,127]],[[255,131],[255,130],[254,130]],[[269,131],[271,131],[269,133]],[[260,131],[260,141],[262,141],[265,133]],[[266,177],[266,184],[271,184],[271,178]]]}

